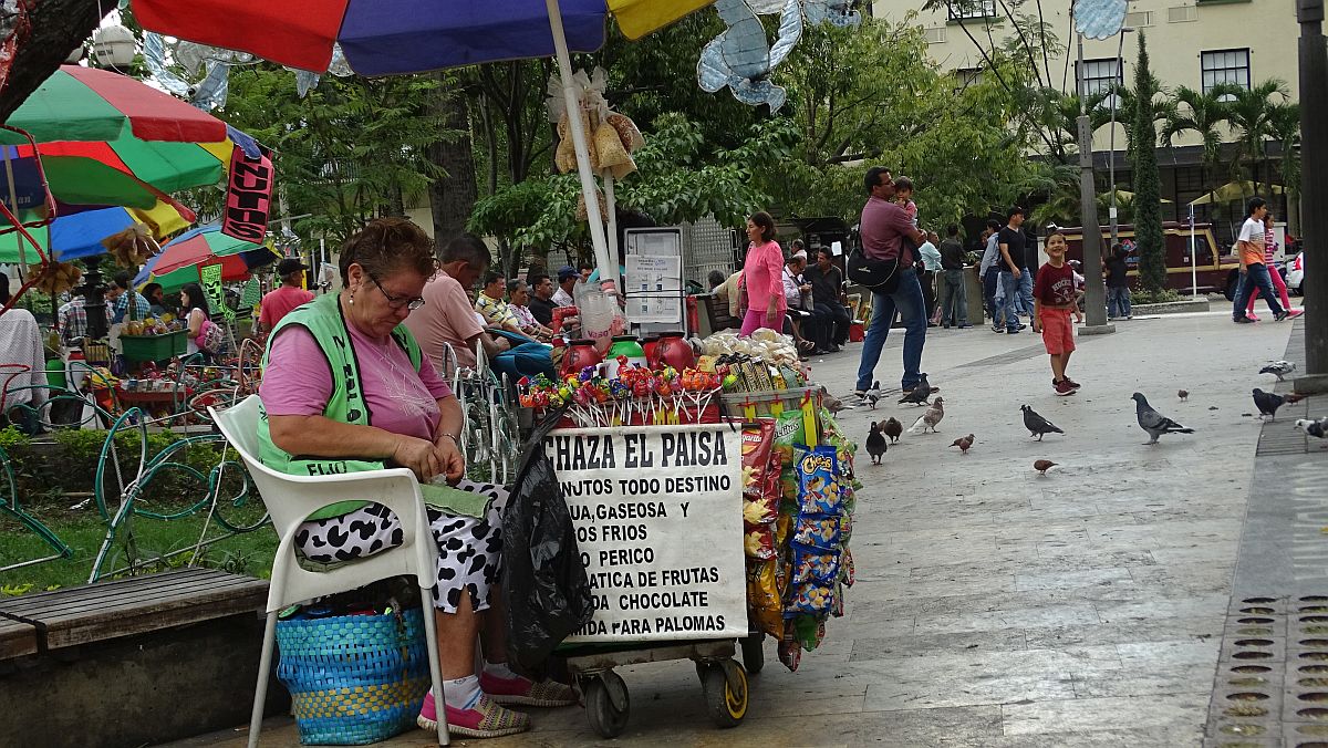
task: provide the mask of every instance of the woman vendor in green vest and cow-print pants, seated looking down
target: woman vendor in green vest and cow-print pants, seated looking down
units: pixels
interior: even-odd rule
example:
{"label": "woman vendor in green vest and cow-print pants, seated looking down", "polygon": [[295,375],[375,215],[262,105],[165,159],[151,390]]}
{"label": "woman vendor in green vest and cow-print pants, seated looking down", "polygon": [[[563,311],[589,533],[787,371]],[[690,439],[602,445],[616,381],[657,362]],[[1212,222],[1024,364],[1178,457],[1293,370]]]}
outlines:
{"label": "woman vendor in green vest and cow-print pants, seated looking down", "polygon": [[[296,474],[400,465],[421,481],[444,474],[499,500],[502,488],[461,481],[461,404],[401,324],[424,304],[420,295],[436,270],[433,240],[409,221],[378,219],[345,243],[340,266],[341,291],[290,312],[268,340],[259,391],[267,413],[259,426],[263,462]],[[530,717],[501,704],[574,704],[568,687],[507,668],[498,509],[485,505],[477,517],[428,513],[438,543],[433,597],[452,731],[513,735],[529,729]],[[360,502],[328,506],[296,534],[300,551],[317,562],[372,555],[401,541],[394,514]],[[477,636],[485,655],[479,676]],[[417,721],[432,729],[436,719],[430,694]]]}

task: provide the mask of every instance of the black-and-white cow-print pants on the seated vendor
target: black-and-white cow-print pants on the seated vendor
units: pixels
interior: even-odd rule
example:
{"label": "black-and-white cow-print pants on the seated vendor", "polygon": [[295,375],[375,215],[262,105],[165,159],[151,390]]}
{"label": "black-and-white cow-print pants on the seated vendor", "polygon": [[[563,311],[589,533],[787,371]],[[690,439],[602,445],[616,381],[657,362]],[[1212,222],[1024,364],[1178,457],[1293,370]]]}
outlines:
{"label": "black-and-white cow-print pants on the seated vendor", "polygon": [[[433,606],[444,612],[457,612],[461,594],[467,591],[475,611],[487,610],[493,587],[502,573],[502,519],[498,512],[507,502],[507,490],[466,480],[457,488],[483,493],[494,501],[483,519],[425,509],[429,529],[438,543]],[[295,533],[295,546],[309,561],[333,563],[382,553],[400,546],[402,537],[397,515],[381,504],[372,504],[340,517],[304,522]]]}

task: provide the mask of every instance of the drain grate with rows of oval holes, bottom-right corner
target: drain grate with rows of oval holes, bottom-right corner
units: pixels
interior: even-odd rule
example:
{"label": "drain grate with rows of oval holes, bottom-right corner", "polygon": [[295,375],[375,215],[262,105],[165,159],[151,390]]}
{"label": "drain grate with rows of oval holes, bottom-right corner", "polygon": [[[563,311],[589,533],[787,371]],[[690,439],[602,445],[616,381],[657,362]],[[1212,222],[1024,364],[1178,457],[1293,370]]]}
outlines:
{"label": "drain grate with rows of oval holes, bottom-right corner", "polygon": [[1206,736],[1214,747],[1328,740],[1328,595],[1232,602]]}

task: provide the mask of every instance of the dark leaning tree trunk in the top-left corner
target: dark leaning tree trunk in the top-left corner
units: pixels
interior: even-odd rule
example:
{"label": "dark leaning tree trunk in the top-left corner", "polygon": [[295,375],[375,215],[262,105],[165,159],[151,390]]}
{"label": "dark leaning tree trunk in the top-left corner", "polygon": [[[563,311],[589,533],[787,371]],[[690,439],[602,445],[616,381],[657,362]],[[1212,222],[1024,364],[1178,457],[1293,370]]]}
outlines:
{"label": "dark leaning tree trunk in the top-left corner", "polygon": [[9,78],[0,89],[0,121],[8,120],[92,36],[102,16],[116,8],[114,3],[97,0],[41,0],[31,5],[32,31],[20,41]]}

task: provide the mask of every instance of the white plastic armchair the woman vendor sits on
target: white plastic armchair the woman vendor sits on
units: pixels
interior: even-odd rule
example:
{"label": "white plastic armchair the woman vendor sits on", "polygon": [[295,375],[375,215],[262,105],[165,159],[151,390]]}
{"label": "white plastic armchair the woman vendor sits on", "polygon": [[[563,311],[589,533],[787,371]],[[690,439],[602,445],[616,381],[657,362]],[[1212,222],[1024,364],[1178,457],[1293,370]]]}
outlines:
{"label": "white plastic armchair the woman vendor sits on", "polygon": [[[288,476],[264,466],[259,458],[258,422],[259,396],[251,395],[227,411],[208,408],[212,421],[226,436],[226,441],[239,452],[248,466],[272,515],[272,526],[280,537],[272,559],[272,583],[267,593],[267,624],[263,628],[263,655],[254,691],[254,713],[250,719],[248,745],[258,745],[263,723],[263,701],[272,668],[272,642],[276,635],[276,614],[282,608],[352,590],[388,577],[414,574],[420,582],[424,607],[425,636],[429,646],[429,675],[433,682],[434,704],[438,708],[438,744],[448,745],[448,721],[444,716],[442,671],[438,660],[438,630],[433,612],[432,589],[437,578],[438,549],[429,531],[420,484],[414,473],[405,468],[368,470],[343,476]],[[295,530],[305,518],[339,501],[372,501],[396,513],[401,521],[401,546],[336,566],[327,571],[309,571],[296,563]]]}

